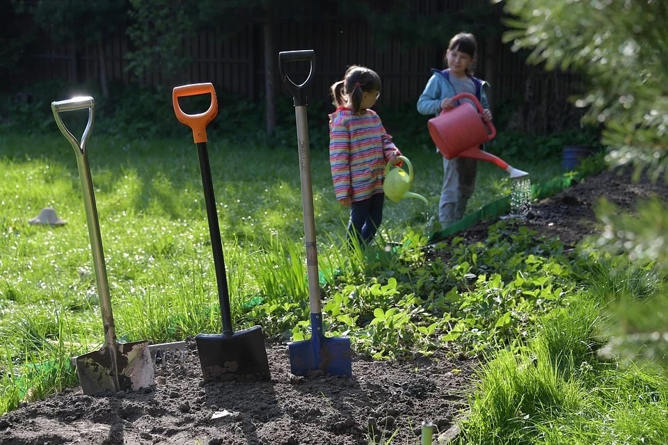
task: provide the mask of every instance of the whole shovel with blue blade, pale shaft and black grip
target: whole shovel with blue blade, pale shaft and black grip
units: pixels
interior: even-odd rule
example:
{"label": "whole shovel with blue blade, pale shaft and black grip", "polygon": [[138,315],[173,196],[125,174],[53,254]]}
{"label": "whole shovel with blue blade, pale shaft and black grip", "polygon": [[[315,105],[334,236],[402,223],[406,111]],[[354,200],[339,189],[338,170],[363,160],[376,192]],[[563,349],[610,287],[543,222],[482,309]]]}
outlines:
{"label": "whole shovel with blue blade, pale shaft and black grip", "polygon": [[[284,63],[309,62],[307,79],[297,85],[285,74]],[[305,87],[311,80],[315,65],[315,52],[281,51],[278,54],[278,70],[283,83],[294,97],[294,114],[297,126],[297,150],[299,152],[301,199],[304,213],[306,247],[306,270],[308,277],[308,300],[310,307],[311,338],[288,343],[290,369],[295,375],[307,375],[310,371],[325,371],[333,375],[352,376],[350,339],[347,337],[325,337],[322,330],[320,307],[320,283],[318,280],[318,252],[315,243],[315,216],[313,190],[311,186],[311,159],[308,146],[308,122],[306,106],[308,100]]]}

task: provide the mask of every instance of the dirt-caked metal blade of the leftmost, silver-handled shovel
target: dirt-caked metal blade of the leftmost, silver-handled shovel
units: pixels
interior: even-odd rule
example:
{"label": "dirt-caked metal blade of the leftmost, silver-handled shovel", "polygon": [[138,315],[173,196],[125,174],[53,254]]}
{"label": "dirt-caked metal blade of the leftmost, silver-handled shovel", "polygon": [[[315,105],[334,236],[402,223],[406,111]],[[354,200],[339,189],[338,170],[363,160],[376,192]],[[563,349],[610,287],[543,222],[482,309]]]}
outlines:
{"label": "dirt-caked metal blade of the leftmost, silver-handled shovel", "polygon": [[136,391],[155,383],[148,341],[120,343],[118,346],[118,387],[113,379],[111,350],[104,346],[77,357],[77,374],[84,394],[95,396],[117,391]]}

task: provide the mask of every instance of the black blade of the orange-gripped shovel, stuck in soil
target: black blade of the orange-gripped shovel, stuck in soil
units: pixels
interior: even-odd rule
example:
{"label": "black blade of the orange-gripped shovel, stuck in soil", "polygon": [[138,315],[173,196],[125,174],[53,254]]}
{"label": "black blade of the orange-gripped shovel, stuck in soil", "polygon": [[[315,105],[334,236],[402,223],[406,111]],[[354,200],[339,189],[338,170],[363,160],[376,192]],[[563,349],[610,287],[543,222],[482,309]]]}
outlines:
{"label": "black blade of the orange-gripped shovel, stuck in soil", "polygon": [[234,334],[198,334],[197,351],[205,382],[271,380],[262,327]]}

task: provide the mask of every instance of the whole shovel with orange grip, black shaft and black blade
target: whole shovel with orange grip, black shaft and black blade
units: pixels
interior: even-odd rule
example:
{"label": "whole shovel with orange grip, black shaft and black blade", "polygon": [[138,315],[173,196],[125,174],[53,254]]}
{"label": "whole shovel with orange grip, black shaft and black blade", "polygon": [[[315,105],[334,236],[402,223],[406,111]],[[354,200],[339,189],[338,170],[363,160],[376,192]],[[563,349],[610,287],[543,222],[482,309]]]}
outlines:
{"label": "whole shovel with orange grip, black shaft and black blade", "polygon": [[[211,95],[211,105],[207,111],[196,115],[186,114],[182,111],[179,105],[180,97],[204,94]],[[253,326],[237,332],[232,330],[232,314],[230,312],[228,280],[225,276],[223,243],[221,241],[221,230],[218,226],[216,198],[214,197],[214,186],[207,152],[207,125],[218,114],[216,91],[212,83],[177,86],[172,93],[172,104],[179,122],[186,124],[193,130],[207,207],[209,235],[211,236],[211,248],[218,284],[218,300],[221,305],[223,333],[198,334],[195,337],[200,365],[202,366],[202,376],[205,382],[235,380],[239,377],[271,380],[262,327]]]}

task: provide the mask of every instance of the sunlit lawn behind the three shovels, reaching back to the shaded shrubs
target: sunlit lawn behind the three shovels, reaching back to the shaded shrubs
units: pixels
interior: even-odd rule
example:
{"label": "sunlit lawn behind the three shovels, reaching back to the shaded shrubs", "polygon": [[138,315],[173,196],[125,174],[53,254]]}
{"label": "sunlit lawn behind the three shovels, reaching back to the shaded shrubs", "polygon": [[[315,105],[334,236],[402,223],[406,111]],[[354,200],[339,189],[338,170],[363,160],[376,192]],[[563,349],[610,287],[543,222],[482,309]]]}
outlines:
{"label": "sunlit lawn behind the three shovels, reaching back to the shaded shrubs", "polygon": [[[250,298],[274,290],[303,309],[296,148],[243,146],[215,132],[209,132],[209,141],[233,317],[238,320],[239,308]],[[415,169],[413,191],[430,205],[387,200],[380,243],[400,243],[410,233],[429,235],[428,220],[438,206],[440,155],[431,148],[403,152]],[[184,127],[183,138],[168,140],[98,138],[93,131],[87,156],[119,338],[162,341],[218,332],[213,261],[189,129]],[[311,160],[320,267],[333,269],[348,261],[340,248],[348,210],[334,199],[326,147],[312,146]],[[3,355],[20,364],[99,347],[102,323],[74,150],[55,125],[49,135],[4,134],[0,164]],[[559,165],[546,165],[532,177],[540,181],[559,172]],[[504,172],[481,163],[469,211],[509,188]],[[67,224],[29,225],[45,207],[53,207]],[[285,282],[292,280],[292,289],[270,280],[280,274]],[[299,298],[304,301],[295,301]],[[292,312],[283,325],[299,320],[299,314]]]}

